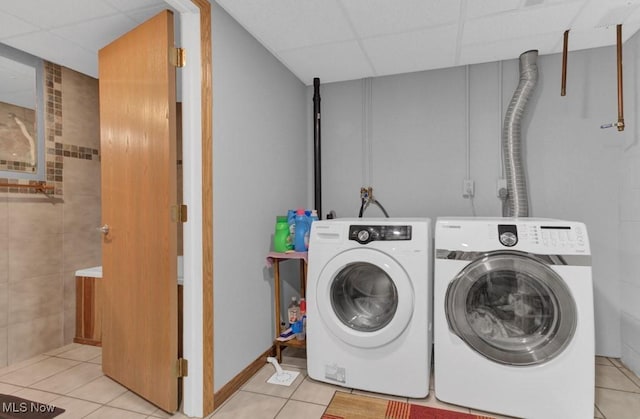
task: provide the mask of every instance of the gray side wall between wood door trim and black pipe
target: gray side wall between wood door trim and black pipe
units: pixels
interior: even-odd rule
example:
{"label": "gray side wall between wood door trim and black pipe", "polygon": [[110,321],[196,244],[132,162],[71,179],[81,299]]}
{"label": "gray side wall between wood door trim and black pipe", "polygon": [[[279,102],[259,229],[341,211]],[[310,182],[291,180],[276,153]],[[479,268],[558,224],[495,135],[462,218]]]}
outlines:
{"label": "gray side wall between wood door trim and black pipe", "polygon": [[265,268],[276,215],[305,205],[306,90],[212,3],[214,385],[220,389],[274,338]]}

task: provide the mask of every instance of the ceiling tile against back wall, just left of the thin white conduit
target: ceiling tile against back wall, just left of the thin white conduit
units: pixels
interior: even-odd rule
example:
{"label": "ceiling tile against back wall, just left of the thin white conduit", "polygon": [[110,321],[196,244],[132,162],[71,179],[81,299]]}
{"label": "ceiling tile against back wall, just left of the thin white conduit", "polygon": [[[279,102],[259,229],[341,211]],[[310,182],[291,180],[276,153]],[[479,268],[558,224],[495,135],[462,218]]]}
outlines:
{"label": "ceiling tile against back wall, just left of the thin white conduit", "polygon": [[362,41],[378,75],[455,65],[457,25],[424,29]]}

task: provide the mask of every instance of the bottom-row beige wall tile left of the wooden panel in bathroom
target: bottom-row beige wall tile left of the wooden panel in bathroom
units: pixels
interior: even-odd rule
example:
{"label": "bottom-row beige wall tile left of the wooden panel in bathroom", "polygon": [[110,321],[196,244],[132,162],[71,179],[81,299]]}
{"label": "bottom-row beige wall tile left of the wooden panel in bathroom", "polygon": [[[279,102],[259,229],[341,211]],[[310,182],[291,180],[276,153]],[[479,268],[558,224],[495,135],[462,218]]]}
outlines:
{"label": "bottom-row beige wall tile left of the wooden panel in bathroom", "polygon": [[8,363],[13,364],[62,346],[64,314],[9,326]]}

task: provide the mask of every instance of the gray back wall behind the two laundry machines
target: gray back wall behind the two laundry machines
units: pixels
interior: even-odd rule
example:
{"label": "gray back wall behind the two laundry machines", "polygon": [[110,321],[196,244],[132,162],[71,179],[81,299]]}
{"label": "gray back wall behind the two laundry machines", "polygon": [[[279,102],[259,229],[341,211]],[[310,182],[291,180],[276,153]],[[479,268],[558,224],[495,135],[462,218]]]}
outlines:
{"label": "gray back wall behind the two laundry machines", "polygon": [[[599,128],[617,116],[615,49],[572,52],[566,97],[560,96],[561,57],[542,56],[538,66],[539,85],[523,121],[530,215],[586,223],[593,253],[596,351],[620,356],[618,185],[625,136],[631,134]],[[518,61],[503,62],[499,74],[499,63],[469,67],[470,147],[465,67],[374,78],[371,147],[362,137],[363,81],[323,85],[324,212],[357,216],[360,186],[373,186],[392,217],[471,216],[471,202],[462,197],[469,171],[476,214],[500,216],[499,92],[502,87],[506,109],[518,84]],[[640,188],[639,182],[635,185]],[[381,215],[374,207],[365,213]]]}

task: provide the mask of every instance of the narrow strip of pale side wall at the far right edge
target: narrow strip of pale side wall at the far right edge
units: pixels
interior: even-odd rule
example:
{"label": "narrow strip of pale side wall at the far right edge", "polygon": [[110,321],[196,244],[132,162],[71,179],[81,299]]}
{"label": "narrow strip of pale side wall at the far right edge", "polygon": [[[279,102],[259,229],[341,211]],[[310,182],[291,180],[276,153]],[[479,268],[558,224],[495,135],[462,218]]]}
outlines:
{"label": "narrow strip of pale side wall at the far right edge", "polygon": [[622,361],[640,375],[640,145],[638,144],[638,95],[640,84],[640,35],[625,44],[624,155],[620,193],[620,298]]}

